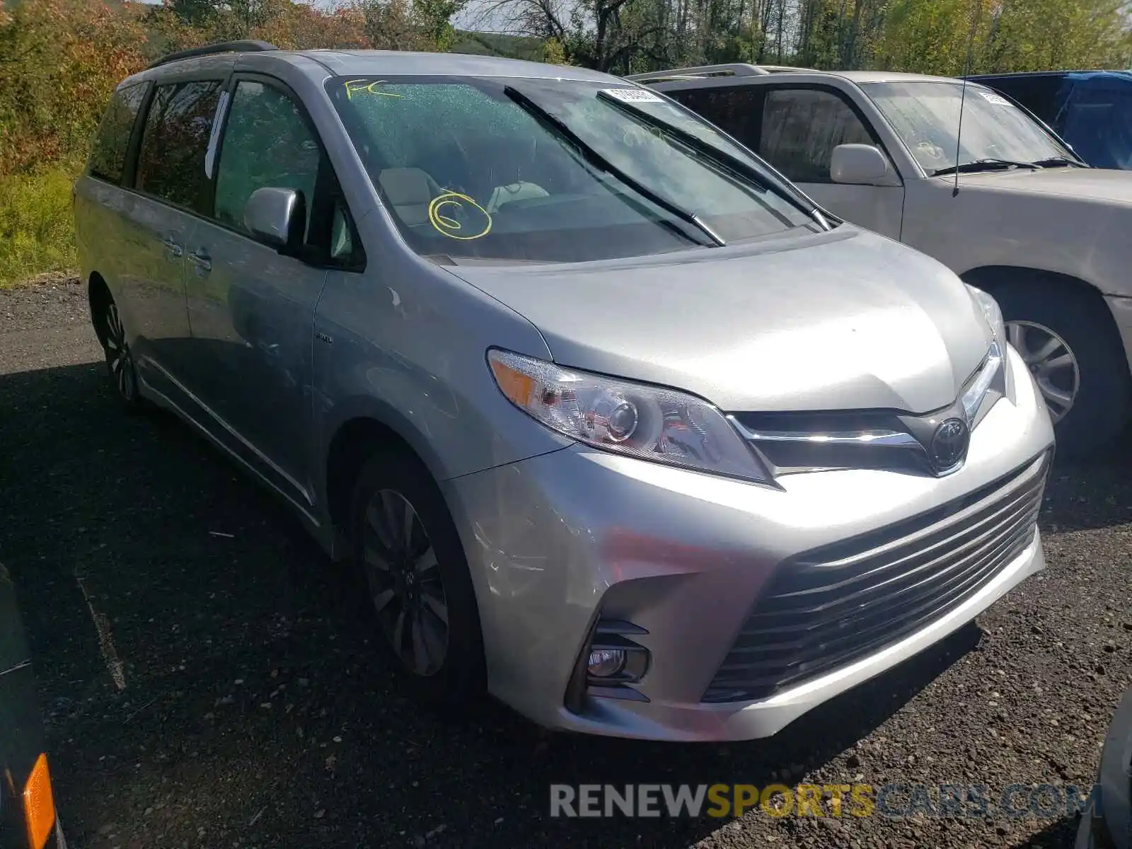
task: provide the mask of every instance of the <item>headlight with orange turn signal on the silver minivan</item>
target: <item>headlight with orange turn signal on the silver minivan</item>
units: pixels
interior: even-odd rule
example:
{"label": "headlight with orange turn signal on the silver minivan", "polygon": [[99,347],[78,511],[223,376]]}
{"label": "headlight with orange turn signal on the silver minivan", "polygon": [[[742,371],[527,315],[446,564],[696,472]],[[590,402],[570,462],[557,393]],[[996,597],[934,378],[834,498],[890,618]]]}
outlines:
{"label": "headlight with orange turn signal on the silver minivan", "polygon": [[638,460],[772,481],[723,414],[706,401],[509,351],[489,351],[488,362],[511,403],[571,439]]}

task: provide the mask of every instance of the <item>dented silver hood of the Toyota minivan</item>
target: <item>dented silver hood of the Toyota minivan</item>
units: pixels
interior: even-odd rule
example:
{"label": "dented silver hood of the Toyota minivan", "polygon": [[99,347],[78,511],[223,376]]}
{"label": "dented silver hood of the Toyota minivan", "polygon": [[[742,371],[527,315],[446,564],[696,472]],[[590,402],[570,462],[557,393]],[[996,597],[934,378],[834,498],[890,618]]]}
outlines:
{"label": "dented silver hood of the Toyota minivan", "polygon": [[530,320],[556,362],[729,412],[938,410],[990,344],[954,274],[848,224],[757,246],[446,271]]}

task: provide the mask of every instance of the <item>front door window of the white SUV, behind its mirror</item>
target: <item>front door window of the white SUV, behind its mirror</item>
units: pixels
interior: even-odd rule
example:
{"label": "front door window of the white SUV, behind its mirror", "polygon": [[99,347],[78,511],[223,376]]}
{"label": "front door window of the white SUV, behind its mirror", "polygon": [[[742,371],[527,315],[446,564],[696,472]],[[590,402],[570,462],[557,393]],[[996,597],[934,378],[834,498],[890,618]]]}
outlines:
{"label": "front door window of the white SUV, behind its mirror", "polygon": [[758,153],[795,182],[830,182],[838,145],[874,144],[841,97],[816,88],[766,93]]}

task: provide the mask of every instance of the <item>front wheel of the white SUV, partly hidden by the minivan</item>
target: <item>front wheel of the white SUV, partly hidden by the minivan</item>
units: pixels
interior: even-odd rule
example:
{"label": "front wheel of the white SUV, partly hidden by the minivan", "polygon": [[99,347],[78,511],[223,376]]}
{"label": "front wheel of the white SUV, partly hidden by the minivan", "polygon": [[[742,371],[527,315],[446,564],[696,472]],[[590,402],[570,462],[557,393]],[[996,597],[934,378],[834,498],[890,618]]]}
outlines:
{"label": "front wheel of the white SUV, partly hidden by the minivan", "polygon": [[1118,436],[1129,422],[1132,386],[1104,301],[1044,281],[1011,281],[988,291],[1046,398],[1058,455],[1082,458]]}

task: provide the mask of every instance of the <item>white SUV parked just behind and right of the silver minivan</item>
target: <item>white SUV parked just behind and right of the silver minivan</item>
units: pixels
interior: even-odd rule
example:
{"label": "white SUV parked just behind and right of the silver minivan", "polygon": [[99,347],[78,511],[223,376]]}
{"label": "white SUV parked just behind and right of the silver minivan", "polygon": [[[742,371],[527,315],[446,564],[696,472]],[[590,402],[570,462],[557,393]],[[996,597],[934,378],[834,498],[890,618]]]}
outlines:
{"label": "white SUV parked just behind and right of the silver minivan", "polygon": [[1132,171],[1088,168],[1001,94],[947,77],[719,65],[631,79],[989,292],[1061,453],[1104,449],[1127,424]]}

